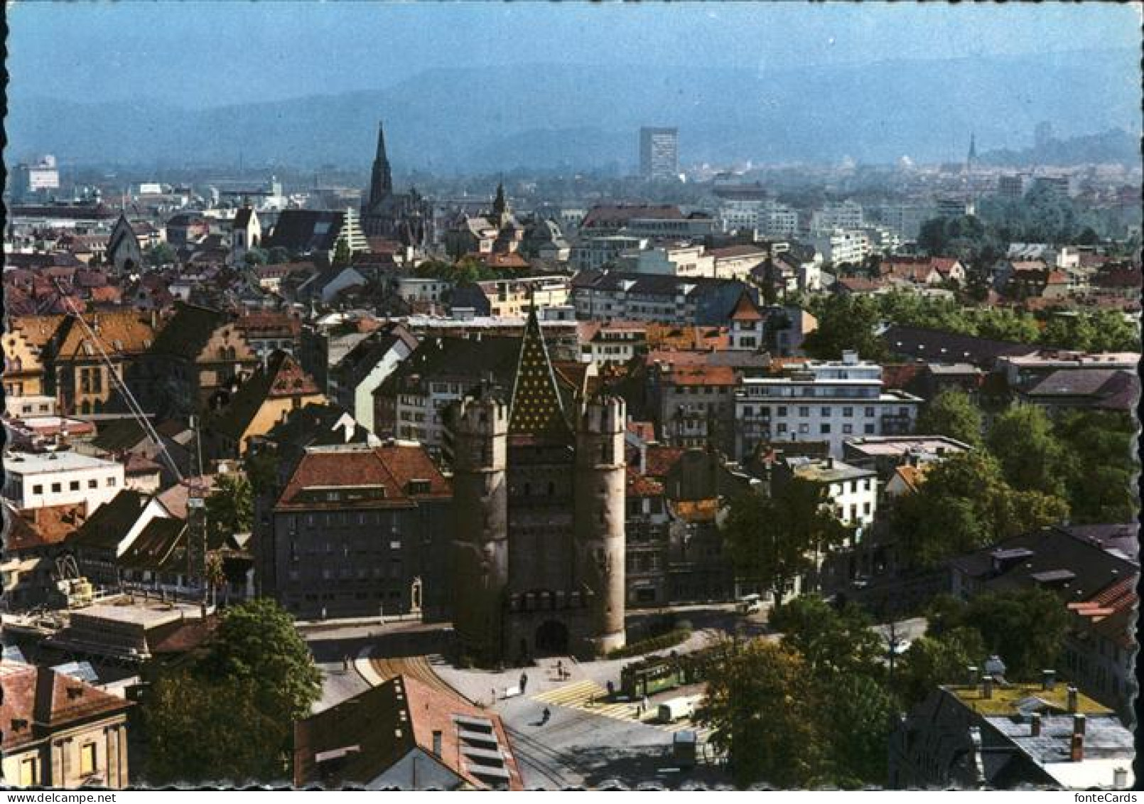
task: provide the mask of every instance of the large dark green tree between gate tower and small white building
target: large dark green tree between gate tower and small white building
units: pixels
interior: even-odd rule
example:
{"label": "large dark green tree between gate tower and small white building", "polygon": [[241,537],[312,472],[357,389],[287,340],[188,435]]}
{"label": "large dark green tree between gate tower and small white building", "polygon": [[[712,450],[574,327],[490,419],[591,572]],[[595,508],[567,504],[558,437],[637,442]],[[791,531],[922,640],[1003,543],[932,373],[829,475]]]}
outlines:
{"label": "large dark green tree between gate tower and small white building", "polygon": [[772,590],[776,607],[795,580],[817,569],[818,558],[848,533],[826,489],[802,478],[782,483],[770,497],[740,492],[722,529],[736,572]]}

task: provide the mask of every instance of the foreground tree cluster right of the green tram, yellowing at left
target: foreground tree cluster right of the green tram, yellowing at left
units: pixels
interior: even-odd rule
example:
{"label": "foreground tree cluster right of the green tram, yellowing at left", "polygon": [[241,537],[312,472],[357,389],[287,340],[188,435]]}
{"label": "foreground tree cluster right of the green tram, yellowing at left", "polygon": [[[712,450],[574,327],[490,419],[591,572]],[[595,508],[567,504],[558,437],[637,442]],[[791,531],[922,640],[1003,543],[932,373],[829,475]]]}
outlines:
{"label": "foreground tree cluster right of the green tram, yellowing at left", "polygon": [[899,645],[849,604],[805,596],[777,608],[781,639],[730,647],[712,668],[697,718],[729,757],[740,787],[858,788],[885,783],[896,716],[938,685],[967,680],[986,657],[1007,678],[1033,680],[1055,667],[1067,629],[1063,602],[1040,589],[987,593],[969,604],[943,597],[927,634]]}

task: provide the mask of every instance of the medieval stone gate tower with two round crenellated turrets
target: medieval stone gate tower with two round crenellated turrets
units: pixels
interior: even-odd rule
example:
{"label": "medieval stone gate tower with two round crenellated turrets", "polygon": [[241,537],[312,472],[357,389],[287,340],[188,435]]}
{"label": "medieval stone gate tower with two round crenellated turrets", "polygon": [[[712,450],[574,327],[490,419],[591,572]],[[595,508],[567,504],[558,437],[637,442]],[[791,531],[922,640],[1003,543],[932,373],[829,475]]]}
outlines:
{"label": "medieval stone gate tower with two round crenellated turrets", "polygon": [[508,401],[484,385],[446,411],[462,655],[623,645],[626,418],[623,400],[561,385],[534,313]]}

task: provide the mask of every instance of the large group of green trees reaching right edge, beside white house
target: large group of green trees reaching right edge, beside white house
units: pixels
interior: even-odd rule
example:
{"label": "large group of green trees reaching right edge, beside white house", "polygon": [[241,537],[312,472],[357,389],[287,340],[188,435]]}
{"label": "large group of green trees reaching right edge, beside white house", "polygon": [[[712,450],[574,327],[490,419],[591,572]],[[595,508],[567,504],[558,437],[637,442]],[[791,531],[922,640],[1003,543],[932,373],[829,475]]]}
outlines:
{"label": "large group of green trees reaching right edge, beside white house", "polygon": [[1136,517],[1136,428],[1126,413],[1050,418],[1035,405],[1016,405],[986,432],[972,400],[946,391],[922,410],[916,429],[976,448],[930,468],[919,490],[895,505],[893,530],[921,567],[1064,519]]}

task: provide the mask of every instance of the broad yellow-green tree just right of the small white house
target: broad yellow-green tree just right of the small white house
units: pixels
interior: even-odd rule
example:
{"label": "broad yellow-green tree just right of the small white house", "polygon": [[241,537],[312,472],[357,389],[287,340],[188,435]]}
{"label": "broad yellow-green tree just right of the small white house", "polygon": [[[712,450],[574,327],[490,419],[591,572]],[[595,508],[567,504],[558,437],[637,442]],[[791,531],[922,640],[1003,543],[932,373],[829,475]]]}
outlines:
{"label": "broad yellow-green tree just right of the small white house", "polygon": [[891,526],[907,560],[932,568],[1067,515],[1064,499],[1015,490],[992,455],[974,450],[930,468],[921,488],[895,503]]}

